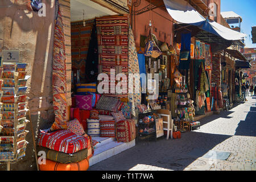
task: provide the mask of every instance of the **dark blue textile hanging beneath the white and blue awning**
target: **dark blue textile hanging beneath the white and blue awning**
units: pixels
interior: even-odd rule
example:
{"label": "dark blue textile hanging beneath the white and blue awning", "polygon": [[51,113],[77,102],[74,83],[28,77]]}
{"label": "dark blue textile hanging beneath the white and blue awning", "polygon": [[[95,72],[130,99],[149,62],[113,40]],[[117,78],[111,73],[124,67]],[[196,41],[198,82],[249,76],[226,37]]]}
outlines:
{"label": "dark blue textile hanging beneath the white and blue awning", "polygon": [[[191,52],[191,33],[182,34],[179,69],[189,69],[189,64],[191,62],[190,52]],[[182,60],[181,57],[185,57],[185,60]]]}

